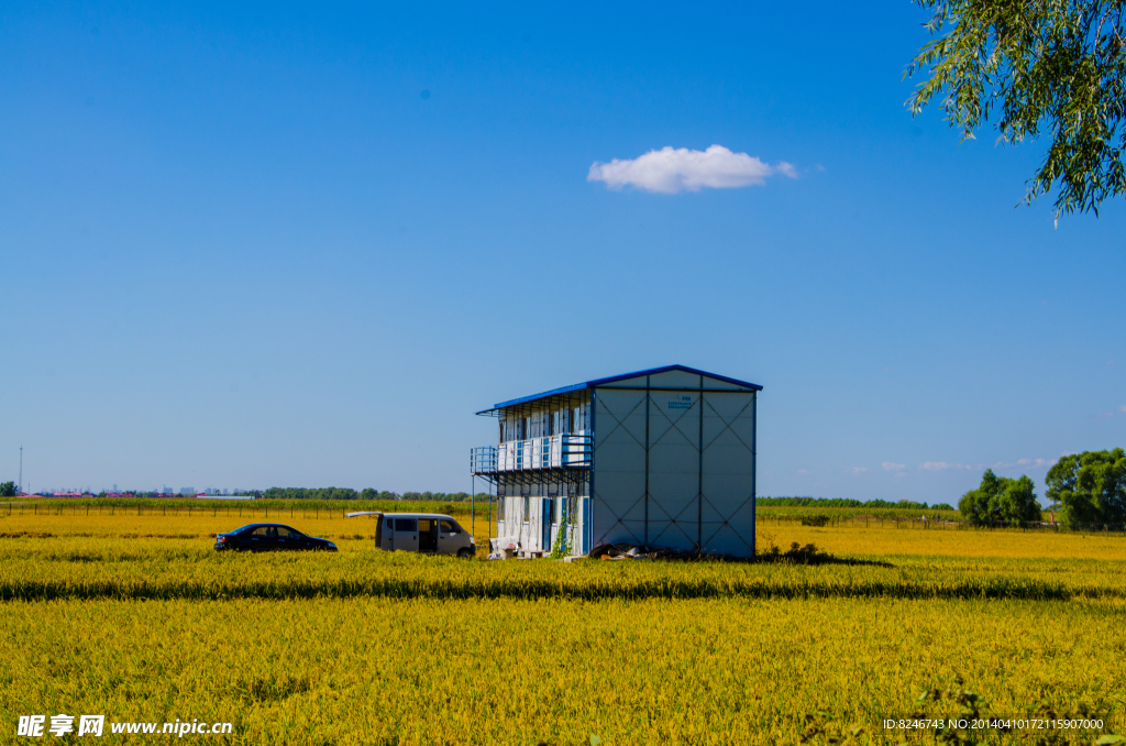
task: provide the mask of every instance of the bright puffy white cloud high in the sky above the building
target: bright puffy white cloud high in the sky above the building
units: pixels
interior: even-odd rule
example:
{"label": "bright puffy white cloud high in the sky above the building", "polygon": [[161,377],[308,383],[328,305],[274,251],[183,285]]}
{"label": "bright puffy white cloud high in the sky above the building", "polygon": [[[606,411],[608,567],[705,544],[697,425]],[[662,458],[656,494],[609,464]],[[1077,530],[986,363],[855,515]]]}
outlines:
{"label": "bright puffy white cloud high in the sky above the building", "polygon": [[704,151],[667,146],[634,159],[615,158],[609,163],[595,161],[587,180],[605,181],[611,189],[633,186],[645,192],[676,194],[699,192],[704,187],[760,186],[775,172],[797,178],[797,170],[786,161],[771,168],[758,158],[733,153],[723,145],[712,145]]}

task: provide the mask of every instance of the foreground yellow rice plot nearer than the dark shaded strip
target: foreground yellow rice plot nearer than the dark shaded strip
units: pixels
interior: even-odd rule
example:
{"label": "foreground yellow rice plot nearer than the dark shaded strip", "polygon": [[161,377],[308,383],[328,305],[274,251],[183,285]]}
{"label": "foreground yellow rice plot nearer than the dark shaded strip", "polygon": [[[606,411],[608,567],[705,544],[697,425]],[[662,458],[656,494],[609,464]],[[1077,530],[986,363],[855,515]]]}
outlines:
{"label": "foreground yellow rice plot nearer than the dark shaded strip", "polygon": [[233,722],[204,740],[234,744],[897,744],[919,739],[881,721],[956,674],[997,713],[1120,712],[1124,612],[872,598],[9,602],[0,719],[199,718]]}

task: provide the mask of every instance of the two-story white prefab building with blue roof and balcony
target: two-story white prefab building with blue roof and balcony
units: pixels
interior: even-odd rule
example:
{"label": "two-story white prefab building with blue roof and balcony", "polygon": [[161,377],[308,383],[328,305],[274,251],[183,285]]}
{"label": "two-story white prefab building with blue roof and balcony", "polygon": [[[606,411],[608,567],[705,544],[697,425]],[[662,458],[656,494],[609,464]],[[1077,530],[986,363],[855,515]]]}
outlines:
{"label": "two-story white prefab building with blue roof and balcony", "polygon": [[498,420],[498,445],[471,453],[473,474],[495,486],[494,548],[558,543],[577,556],[610,542],[753,556],[761,390],[669,365],[477,412]]}

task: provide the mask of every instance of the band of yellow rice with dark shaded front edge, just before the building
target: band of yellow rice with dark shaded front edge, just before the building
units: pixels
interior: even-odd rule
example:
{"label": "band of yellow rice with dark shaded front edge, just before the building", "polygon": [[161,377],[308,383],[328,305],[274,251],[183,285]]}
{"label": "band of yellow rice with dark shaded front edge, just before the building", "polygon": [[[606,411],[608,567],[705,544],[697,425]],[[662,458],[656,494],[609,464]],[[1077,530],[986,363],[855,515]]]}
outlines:
{"label": "band of yellow rice with dark shaded front edge, just before the building", "polygon": [[215,552],[204,542],[8,540],[0,600],[52,598],[1119,598],[1126,561],[991,558],[767,562],[481,562],[383,552]]}

